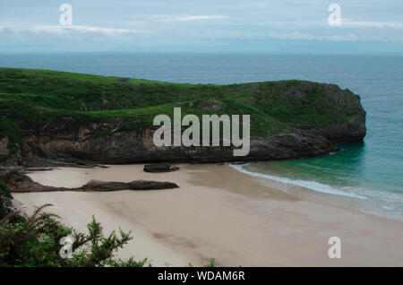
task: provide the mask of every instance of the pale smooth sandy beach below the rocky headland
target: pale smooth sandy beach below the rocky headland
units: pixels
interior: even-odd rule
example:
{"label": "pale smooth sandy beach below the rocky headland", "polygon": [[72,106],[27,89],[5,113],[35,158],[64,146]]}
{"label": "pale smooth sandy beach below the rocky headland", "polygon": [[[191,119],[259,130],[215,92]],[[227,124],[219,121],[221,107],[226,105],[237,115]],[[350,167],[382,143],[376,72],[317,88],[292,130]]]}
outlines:
{"label": "pale smooth sandy beach below the rocky headland", "polygon": [[[146,179],[175,182],[178,189],[14,193],[13,197],[27,212],[52,203],[49,212],[81,231],[92,215],[106,233],[119,227],[132,230],[134,238],[119,257],[147,257],[153,266],[200,266],[210,258],[222,266],[403,265],[402,221],[287,193],[227,165],[178,166],[179,171],[154,174],[144,172],[143,165],[29,174],[47,186],[82,186],[90,179]],[[328,256],[330,237],[341,239],[340,259]]]}

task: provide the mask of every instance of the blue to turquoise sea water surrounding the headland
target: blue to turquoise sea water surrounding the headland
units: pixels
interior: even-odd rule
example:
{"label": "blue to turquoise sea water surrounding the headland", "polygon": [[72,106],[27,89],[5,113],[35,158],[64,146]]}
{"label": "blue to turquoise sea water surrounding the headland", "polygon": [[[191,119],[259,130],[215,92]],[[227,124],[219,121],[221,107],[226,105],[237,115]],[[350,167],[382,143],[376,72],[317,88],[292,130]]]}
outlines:
{"label": "blue to turquoise sea water surrounding the headland", "polygon": [[253,163],[245,171],[314,191],[365,198],[403,220],[403,56],[219,53],[0,54],[0,66],[45,68],[167,82],[239,83],[302,79],[359,94],[363,143],[306,160]]}

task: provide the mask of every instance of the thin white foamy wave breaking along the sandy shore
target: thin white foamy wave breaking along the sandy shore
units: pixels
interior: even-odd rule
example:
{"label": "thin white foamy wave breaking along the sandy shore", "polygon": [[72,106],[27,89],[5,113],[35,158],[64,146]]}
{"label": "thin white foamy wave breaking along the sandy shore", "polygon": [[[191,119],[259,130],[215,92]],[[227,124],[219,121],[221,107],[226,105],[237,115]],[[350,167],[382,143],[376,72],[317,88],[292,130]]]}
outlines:
{"label": "thin white foamy wave breaking along the sandy shore", "polygon": [[229,164],[229,167],[234,168],[244,174],[247,174],[247,175],[250,175],[253,177],[260,177],[260,178],[274,180],[274,181],[277,181],[280,183],[301,186],[301,187],[304,187],[304,188],[307,188],[307,189],[310,189],[310,190],[313,190],[316,192],[321,192],[321,193],[325,193],[325,194],[335,194],[335,195],[339,195],[339,196],[347,196],[350,198],[356,198],[356,199],[360,199],[360,200],[368,199],[368,197],[365,197],[364,195],[342,191],[342,190],[336,189],[332,186],[324,185],[324,184],[316,182],[316,181],[306,181],[306,180],[299,180],[299,179],[293,180],[293,179],[290,179],[287,177],[277,177],[277,176],[272,176],[269,174],[252,172],[252,171],[244,169],[244,166],[246,166],[246,165],[248,165],[248,164],[243,164],[243,165]]}

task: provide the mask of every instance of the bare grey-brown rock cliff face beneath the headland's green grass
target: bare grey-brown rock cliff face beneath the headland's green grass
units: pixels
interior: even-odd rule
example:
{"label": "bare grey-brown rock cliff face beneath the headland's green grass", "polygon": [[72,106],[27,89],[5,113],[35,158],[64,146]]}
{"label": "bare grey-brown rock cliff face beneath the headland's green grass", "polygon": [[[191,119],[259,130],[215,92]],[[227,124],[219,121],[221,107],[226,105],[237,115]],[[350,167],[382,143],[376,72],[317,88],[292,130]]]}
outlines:
{"label": "bare grey-brown rock cliff face beneath the headland's green grass", "polygon": [[[325,155],[338,148],[336,142],[350,142],[362,139],[364,126],[330,126],[329,139],[321,134],[297,130],[289,134],[270,136],[266,139],[252,139],[250,153],[234,157],[233,147],[157,147],[153,142],[155,128],[141,128],[133,131],[91,137],[93,131],[65,117],[53,124],[37,125],[35,134],[24,136],[24,141],[39,157],[66,161],[90,160],[99,163],[136,162],[222,162],[247,160],[286,160]],[[93,129],[116,128],[112,124],[93,124]],[[361,128],[361,133],[357,129]],[[343,137],[336,136],[342,134]]]}

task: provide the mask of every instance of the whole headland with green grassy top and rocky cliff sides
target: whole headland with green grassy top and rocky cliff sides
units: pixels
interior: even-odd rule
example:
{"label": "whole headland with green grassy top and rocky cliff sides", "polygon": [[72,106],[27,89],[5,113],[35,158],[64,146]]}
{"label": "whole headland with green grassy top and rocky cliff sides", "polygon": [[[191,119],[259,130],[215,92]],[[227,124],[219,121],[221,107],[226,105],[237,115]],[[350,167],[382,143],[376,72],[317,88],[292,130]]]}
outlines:
{"label": "whole headland with green grassy top and rocky cliff sides", "polygon": [[[304,81],[193,85],[0,68],[0,159],[94,163],[287,160],[363,140],[360,98],[334,84]],[[249,155],[232,147],[157,147],[153,118],[250,115]]]}

